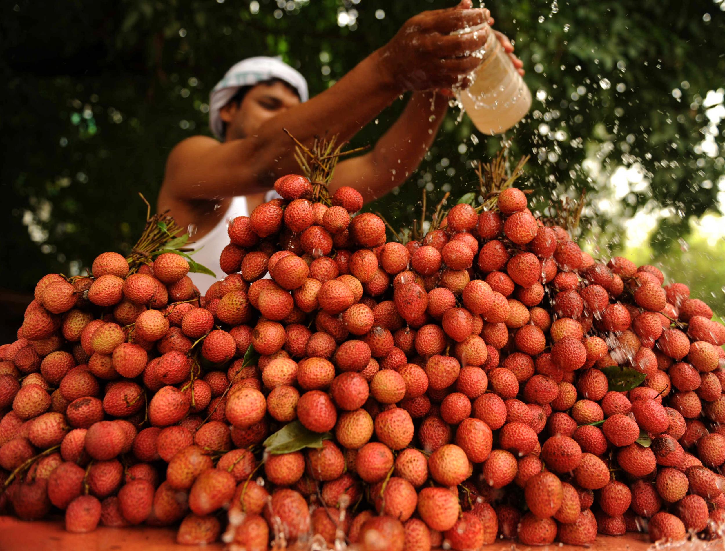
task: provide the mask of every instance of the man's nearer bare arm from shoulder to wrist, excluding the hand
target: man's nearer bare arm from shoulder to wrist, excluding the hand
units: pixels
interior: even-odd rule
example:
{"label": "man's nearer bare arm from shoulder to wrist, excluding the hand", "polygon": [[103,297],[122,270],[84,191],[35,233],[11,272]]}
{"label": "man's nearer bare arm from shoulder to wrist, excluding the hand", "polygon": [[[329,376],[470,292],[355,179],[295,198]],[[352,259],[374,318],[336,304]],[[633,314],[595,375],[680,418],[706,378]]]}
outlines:
{"label": "man's nearer bare arm from shoulder to wrist, excluding the hand", "polygon": [[274,117],[256,136],[223,144],[204,136],[182,141],[169,155],[165,181],[173,183],[175,196],[184,199],[263,191],[276,176],[299,170],[294,143],[283,128],[302,143],[326,133],[349,139],[399,93],[376,70],[373,55],[325,93]]}

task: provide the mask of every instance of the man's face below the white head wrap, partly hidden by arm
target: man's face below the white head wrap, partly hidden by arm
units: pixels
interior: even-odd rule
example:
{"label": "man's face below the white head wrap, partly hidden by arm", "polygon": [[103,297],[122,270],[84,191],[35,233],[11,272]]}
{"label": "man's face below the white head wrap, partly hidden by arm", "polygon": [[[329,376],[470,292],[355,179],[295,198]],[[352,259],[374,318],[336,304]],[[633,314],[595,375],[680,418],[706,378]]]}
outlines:
{"label": "man's face below the white head wrap, partly hidden by arm", "polygon": [[297,94],[281,82],[257,84],[242,99],[239,106],[230,102],[220,111],[227,125],[226,139],[254,136],[272,117],[299,104]]}

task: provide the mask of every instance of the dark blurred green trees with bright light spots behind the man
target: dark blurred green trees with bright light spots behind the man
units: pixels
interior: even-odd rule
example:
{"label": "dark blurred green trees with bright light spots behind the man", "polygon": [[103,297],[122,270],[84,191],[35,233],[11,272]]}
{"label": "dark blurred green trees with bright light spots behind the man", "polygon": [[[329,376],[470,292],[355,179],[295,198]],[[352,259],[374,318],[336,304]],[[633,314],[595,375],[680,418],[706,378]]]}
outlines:
{"label": "dark blurred green trees with bright light spots behind the man", "polygon": [[[153,202],[170,149],[208,133],[209,92],[234,62],[281,55],[319,93],[407,18],[452,1],[4,3],[0,288],[32,291],[45,273],[127,252],[146,214],[138,192]],[[421,188],[429,204],[472,191],[471,162],[510,144],[512,159],[531,154],[532,208],[547,212],[586,189],[581,228],[592,252],[654,262],[722,312],[725,1],[486,7],[526,65],[529,117],[486,137],[451,109],[418,172],[369,208],[405,225]],[[374,143],[403,104],[352,146]]]}

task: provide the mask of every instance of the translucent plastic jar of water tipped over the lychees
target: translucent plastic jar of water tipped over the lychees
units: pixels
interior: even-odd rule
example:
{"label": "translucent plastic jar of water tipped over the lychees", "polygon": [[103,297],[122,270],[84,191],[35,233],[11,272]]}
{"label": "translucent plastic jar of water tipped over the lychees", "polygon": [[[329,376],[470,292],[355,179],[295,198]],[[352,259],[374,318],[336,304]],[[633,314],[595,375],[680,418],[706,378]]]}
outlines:
{"label": "translucent plastic jar of water tipped over the lychees", "polygon": [[473,125],[481,133],[500,134],[518,123],[531,108],[531,91],[488,25],[466,32],[488,30],[481,65],[471,73],[473,82],[455,90]]}

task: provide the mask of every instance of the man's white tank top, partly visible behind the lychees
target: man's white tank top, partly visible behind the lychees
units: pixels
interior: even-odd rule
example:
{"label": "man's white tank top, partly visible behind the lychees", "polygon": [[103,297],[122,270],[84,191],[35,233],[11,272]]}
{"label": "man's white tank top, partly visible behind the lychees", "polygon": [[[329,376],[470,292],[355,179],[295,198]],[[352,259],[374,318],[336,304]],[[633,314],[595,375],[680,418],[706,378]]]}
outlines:
{"label": "man's white tank top, partly visible behind the lychees", "polygon": [[[270,201],[279,195],[274,190],[270,190],[265,195],[265,201]],[[232,197],[231,204],[227,212],[219,219],[217,225],[205,236],[194,241],[193,247],[196,250],[192,258],[199,264],[206,266],[217,277],[212,278],[205,273],[189,273],[188,276],[194,285],[199,288],[199,292],[204,295],[207,289],[214,283],[226,276],[219,265],[219,257],[222,250],[229,244],[229,234],[227,227],[229,223],[237,216],[249,216],[249,207],[247,206],[247,197],[244,195]],[[192,238],[193,239],[193,238]]]}

